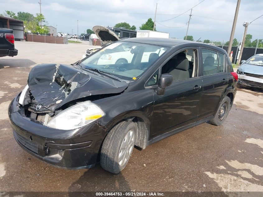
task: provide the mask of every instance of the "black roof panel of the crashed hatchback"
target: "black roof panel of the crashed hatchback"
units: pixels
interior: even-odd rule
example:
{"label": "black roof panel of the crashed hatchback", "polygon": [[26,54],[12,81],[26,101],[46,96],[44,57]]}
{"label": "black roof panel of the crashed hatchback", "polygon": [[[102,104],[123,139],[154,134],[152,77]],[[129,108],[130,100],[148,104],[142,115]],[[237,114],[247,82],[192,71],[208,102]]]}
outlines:
{"label": "black roof panel of the crashed hatchback", "polygon": [[213,46],[213,45],[209,45],[209,44],[205,44],[201,42],[194,42],[194,41],[189,41],[189,40],[179,40],[179,39],[173,39],[173,38],[127,38],[121,41],[138,42],[138,43],[144,43],[144,44],[149,44],[149,45],[159,45],[159,46],[170,47],[170,48],[176,45],[182,44],[182,43],[185,43],[185,44],[192,43],[193,46],[207,47],[207,48],[215,49],[215,50],[225,53],[224,49],[221,49],[217,46]]}

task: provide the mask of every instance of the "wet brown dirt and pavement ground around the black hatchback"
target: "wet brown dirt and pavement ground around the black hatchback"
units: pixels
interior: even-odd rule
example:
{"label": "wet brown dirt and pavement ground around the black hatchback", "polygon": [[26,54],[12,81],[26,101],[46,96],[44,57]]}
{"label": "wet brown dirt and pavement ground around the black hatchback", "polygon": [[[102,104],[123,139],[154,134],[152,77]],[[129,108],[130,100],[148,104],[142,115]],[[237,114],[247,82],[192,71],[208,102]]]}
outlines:
{"label": "wet brown dirt and pavement ground around the black hatchback", "polygon": [[[0,59],[0,191],[262,191],[263,93],[238,89],[221,126],[200,124],[134,149],[117,175],[52,167],[20,148],[7,108],[39,63],[74,63],[92,46],[16,42],[18,55]],[[144,166],[145,164],[145,166]],[[262,193],[261,193],[262,194]],[[1,196],[1,195],[0,195]]]}

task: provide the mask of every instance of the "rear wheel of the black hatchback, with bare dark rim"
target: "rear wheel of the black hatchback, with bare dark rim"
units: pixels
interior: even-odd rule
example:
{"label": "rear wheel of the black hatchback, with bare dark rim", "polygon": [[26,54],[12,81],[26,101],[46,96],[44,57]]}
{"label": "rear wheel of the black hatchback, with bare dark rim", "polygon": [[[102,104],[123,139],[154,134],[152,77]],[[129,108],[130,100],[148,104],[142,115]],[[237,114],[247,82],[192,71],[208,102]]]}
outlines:
{"label": "rear wheel of the black hatchback, with bare dark rim", "polygon": [[223,124],[223,122],[226,120],[228,116],[230,109],[231,109],[230,98],[228,96],[225,96],[223,100],[220,102],[215,117],[212,120],[209,120],[209,123],[217,126]]}

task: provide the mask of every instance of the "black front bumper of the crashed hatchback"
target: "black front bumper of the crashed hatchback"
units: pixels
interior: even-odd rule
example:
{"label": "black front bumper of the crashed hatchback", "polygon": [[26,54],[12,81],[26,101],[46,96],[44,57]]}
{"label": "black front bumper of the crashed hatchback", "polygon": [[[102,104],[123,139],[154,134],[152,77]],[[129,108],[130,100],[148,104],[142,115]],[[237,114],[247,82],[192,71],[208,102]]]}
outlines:
{"label": "black front bumper of the crashed hatchback", "polygon": [[16,142],[31,155],[51,165],[68,169],[91,168],[105,136],[93,123],[74,130],[53,129],[23,116],[18,96],[11,102],[8,115]]}

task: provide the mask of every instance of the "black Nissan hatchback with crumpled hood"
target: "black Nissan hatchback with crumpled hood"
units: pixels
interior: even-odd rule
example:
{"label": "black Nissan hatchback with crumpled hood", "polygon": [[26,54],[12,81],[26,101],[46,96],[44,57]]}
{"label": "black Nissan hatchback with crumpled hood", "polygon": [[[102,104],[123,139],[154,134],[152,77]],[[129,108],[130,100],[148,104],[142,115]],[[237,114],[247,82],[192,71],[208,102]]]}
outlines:
{"label": "black Nissan hatchback with crumpled hood", "polygon": [[134,145],[144,149],[206,121],[221,125],[236,91],[221,48],[129,38],[72,65],[35,66],[8,114],[17,143],[35,157],[70,169],[100,161],[119,173]]}

